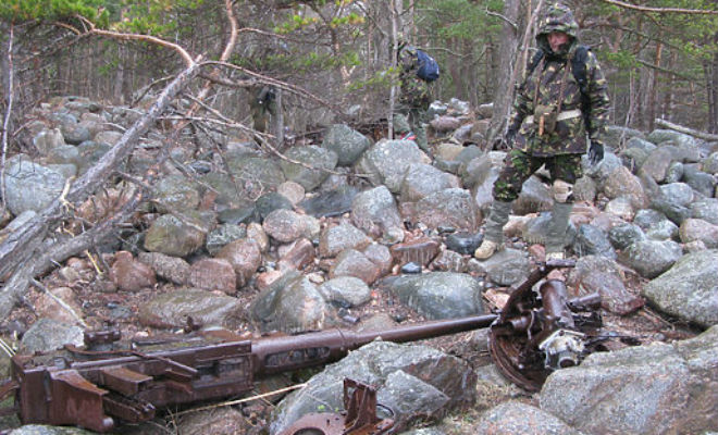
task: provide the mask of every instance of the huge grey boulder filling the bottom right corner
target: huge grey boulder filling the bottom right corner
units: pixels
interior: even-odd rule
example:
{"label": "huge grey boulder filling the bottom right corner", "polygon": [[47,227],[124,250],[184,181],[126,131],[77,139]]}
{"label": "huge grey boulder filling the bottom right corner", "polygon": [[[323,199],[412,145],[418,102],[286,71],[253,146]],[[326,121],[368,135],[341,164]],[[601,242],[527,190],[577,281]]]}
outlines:
{"label": "huge grey boulder filling the bottom right corner", "polygon": [[673,345],[591,355],[554,372],[541,409],[590,434],[702,434],[718,418],[718,327]]}

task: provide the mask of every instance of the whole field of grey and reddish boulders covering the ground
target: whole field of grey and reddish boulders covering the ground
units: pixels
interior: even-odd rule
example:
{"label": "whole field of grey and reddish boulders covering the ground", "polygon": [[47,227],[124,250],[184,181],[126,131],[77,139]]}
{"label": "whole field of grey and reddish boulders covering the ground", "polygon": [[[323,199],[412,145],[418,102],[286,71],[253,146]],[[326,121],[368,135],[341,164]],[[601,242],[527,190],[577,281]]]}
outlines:
{"label": "whole field of grey and reddish boulders covering the ground", "polygon": [[[145,199],[109,237],[38,277],[0,321],[3,340],[36,352],[82,345],[88,330],[132,339],[220,326],[258,337],[497,312],[545,260],[550,191],[541,171],[532,176],[504,228],[506,248],[473,259],[505,151],[486,149],[490,107],[451,100],[430,110],[430,153],[348,124],[273,152],[215,127],[168,140],[170,121],[158,123],[101,190],[65,208],[46,243],[101,225],[140,190]],[[29,140],[3,169],[0,243],[143,113],[82,97],[27,113]],[[605,332],[637,345],[617,341],[529,394],[491,363],[483,330],[375,341],[311,373],[258,383],[263,393],[307,382],[286,397],[122,431],[276,434],[308,412],[341,410],[351,376],[376,387],[403,433],[718,432],[718,142],[611,126],[607,147],[574,187],[565,241],[575,266],[552,277],[571,296],[601,294]],[[157,182],[138,183],[149,171]],[[0,369],[8,361],[0,356]]]}

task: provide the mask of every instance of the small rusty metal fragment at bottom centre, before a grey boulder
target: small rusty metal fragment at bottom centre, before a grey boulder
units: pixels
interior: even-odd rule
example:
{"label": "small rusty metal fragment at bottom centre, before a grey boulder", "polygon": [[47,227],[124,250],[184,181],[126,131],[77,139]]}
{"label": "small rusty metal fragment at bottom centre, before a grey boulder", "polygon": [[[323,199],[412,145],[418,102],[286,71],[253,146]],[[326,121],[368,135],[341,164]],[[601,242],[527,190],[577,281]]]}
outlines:
{"label": "small rusty metal fragment at bottom centre, before a grey boulder", "polygon": [[[394,427],[393,419],[376,415],[376,389],[350,378],[344,380],[345,413],[312,412],[277,435],[379,435]],[[393,413],[393,411],[392,411]]]}

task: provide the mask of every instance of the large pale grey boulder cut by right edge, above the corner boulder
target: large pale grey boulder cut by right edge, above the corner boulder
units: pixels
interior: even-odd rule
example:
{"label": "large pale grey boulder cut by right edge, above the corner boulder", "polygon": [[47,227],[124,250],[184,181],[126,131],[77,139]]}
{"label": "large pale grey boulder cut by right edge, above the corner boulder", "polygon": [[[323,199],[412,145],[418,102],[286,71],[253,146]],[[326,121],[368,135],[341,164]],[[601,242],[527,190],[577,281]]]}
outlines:
{"label": "large pale grey boulder cut by right edge, above the corner boulder", "polygon": [[718,324],[718,250],[689,253],[643,286],[643,296],[671,315],[703,326]]}

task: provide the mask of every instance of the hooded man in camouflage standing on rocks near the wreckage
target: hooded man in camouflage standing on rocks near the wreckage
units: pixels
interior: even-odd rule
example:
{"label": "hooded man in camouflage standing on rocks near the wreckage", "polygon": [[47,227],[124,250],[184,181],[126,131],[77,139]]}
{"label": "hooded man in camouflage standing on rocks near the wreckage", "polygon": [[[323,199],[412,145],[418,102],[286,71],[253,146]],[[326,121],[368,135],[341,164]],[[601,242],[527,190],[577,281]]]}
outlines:
{"label": "hooded man in camouflage standing on rocks near the wreckage", "polygon": [[[484,241],[474,252],[487,259],[502,247],[503,227],[521,186],[543,164],[550,174],[554,207],[546,238],[546,258],[564,258],[564,235],[573,204],[573,183],[581,177],[581,154],[590,138],[592,164],[603,160],[603,137],[608,122],[606,79],[596,57],[584,50],[584,92],[571,73],[579,49],[579,26],[571,10],[554,4],[541,21],[536,42],[544,55],[528,71],[518,88],[507,133],[507,153],[494,184],[494,202],[486,220]],[[577,58],[581,59],[581,58]]]}

